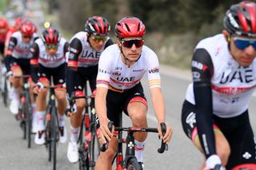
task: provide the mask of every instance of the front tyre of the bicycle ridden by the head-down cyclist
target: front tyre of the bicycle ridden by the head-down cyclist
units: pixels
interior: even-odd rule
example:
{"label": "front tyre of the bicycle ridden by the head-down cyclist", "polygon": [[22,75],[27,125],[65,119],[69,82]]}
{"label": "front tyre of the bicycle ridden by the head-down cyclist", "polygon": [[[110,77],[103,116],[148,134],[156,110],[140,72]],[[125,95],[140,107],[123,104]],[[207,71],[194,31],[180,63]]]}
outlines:
{"label": "front tyre of the bicycle ridden by the head-down cyclist", "polygon": [[56,157],[57,157],[57,132],[58,132],[58,119],[57,119],[57,109],[56,107],[53,107],[52,113],[51,113],[51,156],[52,156],[52,164],[53,169],[56,169]]}

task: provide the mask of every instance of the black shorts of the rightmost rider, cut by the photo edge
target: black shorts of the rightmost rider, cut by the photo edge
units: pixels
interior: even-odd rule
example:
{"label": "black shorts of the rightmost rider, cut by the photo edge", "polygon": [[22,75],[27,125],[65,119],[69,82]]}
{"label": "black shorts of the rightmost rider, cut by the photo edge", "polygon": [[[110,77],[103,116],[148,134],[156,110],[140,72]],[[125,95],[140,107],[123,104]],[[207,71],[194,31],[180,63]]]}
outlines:
{"label": "black shorts of the rightmost rider, cut by the photo edge", "polygon": [[[192,132],[196,127],[195,106],[188,101],[182,105],[182,128],[192,140]],[[239,164],[256,164],[256,141],[250,125],[248,110],[237,117],[222,118],[213,115],[217,125],[230,144],[230,158],[227,169]]]}

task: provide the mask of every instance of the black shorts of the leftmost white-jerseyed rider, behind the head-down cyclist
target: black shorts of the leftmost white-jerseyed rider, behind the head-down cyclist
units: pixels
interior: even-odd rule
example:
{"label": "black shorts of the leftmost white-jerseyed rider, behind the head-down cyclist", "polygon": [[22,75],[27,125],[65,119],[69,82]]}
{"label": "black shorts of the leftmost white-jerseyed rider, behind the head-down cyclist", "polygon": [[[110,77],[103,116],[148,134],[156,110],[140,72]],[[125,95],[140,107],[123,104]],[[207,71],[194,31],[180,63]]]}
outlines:
{"label": "black shorts of the leftmost white-jerseyed rider, behind the head-down cyclist", "polygon": [[30,59],[23,59],[23,58],[15,58],[10,57],[10,67],[14,65],[19,65],[22,69],[22,73],[26,75],[30,75],[31,66],[30,66]]}

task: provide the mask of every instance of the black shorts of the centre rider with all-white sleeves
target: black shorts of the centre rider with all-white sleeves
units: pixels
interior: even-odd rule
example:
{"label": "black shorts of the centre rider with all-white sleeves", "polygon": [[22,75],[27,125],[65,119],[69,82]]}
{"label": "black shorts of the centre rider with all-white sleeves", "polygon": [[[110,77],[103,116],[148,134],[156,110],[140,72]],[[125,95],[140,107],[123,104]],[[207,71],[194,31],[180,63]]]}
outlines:
{"label": "black shorts of the centre rider with all-white sleeves", "polygon": [[114,121],[114,126],[120,126],[118,114],[124,112],[128,115],[127,106],[134,97],[142,97],[146,101],[141,83],[123,93],[108,90],[106,95],[107,117],[110,121]]}

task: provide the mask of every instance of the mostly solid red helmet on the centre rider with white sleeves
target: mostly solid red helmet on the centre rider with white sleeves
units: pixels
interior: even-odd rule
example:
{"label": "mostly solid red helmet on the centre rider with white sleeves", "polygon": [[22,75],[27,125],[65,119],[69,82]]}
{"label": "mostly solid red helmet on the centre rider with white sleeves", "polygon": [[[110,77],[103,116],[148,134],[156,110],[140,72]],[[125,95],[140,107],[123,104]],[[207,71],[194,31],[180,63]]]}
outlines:
{"label": "mostly solid red helmet on the centre rider with white sleeves", "polygon": [[115,34],[118,38],[143,38],[146,28],[141,20],[135,17],[122,18],[115,26]]}

